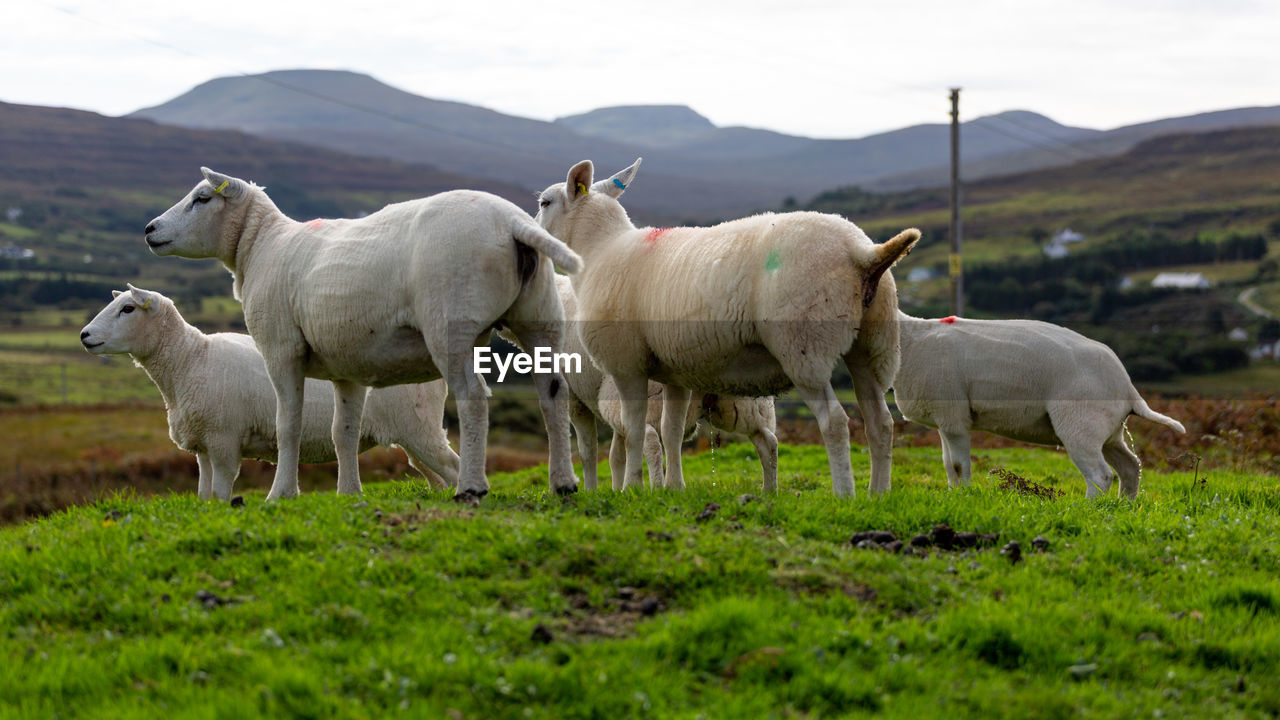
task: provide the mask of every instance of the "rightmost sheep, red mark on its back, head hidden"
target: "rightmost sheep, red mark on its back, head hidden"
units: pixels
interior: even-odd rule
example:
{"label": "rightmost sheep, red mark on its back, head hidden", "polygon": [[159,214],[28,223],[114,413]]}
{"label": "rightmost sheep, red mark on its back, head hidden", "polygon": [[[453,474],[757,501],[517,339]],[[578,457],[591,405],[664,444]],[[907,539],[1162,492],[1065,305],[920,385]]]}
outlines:
{"label": "rightmost sheep, red mark on its back, head hidden", "polygon": [[1120,492],[1133,498],[1142,462],[1125,442],[1129,415],[1185,432],[1147,406],[1110,347],[1064,327],[900,313],[899,328],[893,397],[904,418],[938,429],[951,487],[969,484],[969,433],[978,429],[1060,445],[1087,497],[1110,491],[1119,474]]}

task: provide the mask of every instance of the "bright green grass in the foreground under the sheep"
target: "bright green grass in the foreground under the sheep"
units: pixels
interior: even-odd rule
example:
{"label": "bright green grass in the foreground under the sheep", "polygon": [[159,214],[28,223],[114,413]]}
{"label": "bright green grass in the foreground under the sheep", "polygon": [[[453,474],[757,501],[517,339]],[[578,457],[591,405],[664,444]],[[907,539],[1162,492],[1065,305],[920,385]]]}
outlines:
{"label": "bright green grass in the foreground under the sheep", "polygon": [[[1093,502],[1061,454],[979,454],[1066,491],[1048,501],[978,471],[947,491],[937,450],[895,461],[892,493],[851,501],[817,447],[783,447],[782,492],[740,498],[759,470],[731,446],[687,459],[682,493],[562,502],[538,469],[492,477],[475,510],[385,483],[242,509],[118,497],[6,528],[0,715],[1280,711],[1275,478],[1148,474],[1137,502]],[[847,542],[936,523],[1001,532],[1025,561]]]}

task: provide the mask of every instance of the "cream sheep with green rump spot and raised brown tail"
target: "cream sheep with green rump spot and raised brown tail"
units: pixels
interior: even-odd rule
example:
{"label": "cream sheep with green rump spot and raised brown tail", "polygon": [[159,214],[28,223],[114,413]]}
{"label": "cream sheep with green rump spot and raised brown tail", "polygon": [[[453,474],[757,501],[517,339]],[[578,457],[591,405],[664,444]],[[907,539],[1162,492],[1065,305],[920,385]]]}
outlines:
{"label": "cream sheep with green rump spot and raised brown tail", "polygon": [[[684,486],[680,436],[690,391],[777,395],[795,387],[818,420],[832,489],[854,495],[849,415],[831,387],[844,359],[867,416],[872,492],[890,488],[884,391],[897,372],[892,266],[911,228],[876,245],[836,215],[755,215],[712,228],[636,228],[618,197],[640,167],[594,182],[590,160],[539,195],[536,220],[582,255],[573,275],[582,345],[613,375],[628,438],[643,437],[648,380],[663,383],[668,484]],[[640,482],[628,442],[625,487]]]}

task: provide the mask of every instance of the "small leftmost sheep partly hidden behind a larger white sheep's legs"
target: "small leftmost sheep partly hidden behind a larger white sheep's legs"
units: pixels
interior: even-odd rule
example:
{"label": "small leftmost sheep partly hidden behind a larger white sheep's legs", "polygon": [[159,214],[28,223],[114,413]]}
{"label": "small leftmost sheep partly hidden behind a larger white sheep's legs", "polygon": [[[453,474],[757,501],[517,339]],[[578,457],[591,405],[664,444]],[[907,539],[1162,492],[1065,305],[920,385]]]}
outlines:
{"label": "small leftmost sheep partly hidden behind a larger white sheep's legs", "polygon": [[[275,396],[262,355],[247,334],[205,334],[164,295],[128,288],[111,291],[111,302],[81,331],[81,343],[92,355],[133,357],[164,397],[169,437],[196,456],[201,500],[228,500],[242,457],[276,457]],[[306,384],[300,459],[330,462],[333,393],[321,380]],[[458,456],[443,427],[445,393],[444,380],[370,389],[360,450],[398,445],[419,473],[430,469],[456,484]]]}

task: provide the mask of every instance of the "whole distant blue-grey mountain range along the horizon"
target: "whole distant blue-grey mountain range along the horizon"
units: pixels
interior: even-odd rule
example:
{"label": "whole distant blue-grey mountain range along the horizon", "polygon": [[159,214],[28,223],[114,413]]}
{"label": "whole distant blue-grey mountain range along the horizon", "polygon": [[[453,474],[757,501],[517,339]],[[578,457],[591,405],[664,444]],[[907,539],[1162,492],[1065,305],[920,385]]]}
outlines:
{"label": "whole distant blue-grey mountain range along the horizon", "polygon": [[[538,190],[582,159],[614,170],[645,158],[630,206],[668,218],[728,217],[835,187],[905,190],[945,183],[946,124],[855,140],[716,127],[690,108],[605,108],[554,122],[412,95],[343,70],[279,70],[205,82],[132,113],[189,128],[238,129]],[[1280,124],[1280,106],[1224,110],[1111,131],[1029,111],[964,123],[966,179],[1115,155],[1178,132]]]}

